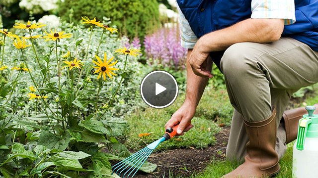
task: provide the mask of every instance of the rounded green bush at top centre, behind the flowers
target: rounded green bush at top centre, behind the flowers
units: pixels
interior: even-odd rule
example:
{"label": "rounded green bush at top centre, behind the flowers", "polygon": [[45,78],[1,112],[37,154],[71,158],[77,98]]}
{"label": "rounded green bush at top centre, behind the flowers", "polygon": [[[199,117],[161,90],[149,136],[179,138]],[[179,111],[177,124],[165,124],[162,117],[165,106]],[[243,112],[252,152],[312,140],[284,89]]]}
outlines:
{"label": "rounded green bush at top centre, behind the flowers", "polygon": [[[73,10],[71,10],[73,9]],[[143,39],[158,21],[159,6],[156,0],[65,0],[60,4],[63,20],[78,22],[80,16],[103,16],[112,19],[114,25],[121,29],[121,34],[130,39],[138,35]]]}

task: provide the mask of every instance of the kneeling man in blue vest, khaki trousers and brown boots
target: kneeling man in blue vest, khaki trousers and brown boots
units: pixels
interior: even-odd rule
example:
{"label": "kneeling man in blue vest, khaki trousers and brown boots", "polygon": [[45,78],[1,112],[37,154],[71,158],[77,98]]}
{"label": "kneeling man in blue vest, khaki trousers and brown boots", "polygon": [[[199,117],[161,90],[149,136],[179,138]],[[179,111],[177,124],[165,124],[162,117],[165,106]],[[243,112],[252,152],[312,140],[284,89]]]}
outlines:
{"label": "kneeling man in blue vest, khaki trousers and brown boots", "polygon": [[212,78],[213,61],[235,108],[227,157],[245,160],[224,177],[278,173],[286,143],[296,138],[306,113],[285,111],[288,101],[318,82],[318,0],[176,1],[182,45],[188,48],[187,89],[165,127],[180,123],[180,135],[193,127],[189,123]]}

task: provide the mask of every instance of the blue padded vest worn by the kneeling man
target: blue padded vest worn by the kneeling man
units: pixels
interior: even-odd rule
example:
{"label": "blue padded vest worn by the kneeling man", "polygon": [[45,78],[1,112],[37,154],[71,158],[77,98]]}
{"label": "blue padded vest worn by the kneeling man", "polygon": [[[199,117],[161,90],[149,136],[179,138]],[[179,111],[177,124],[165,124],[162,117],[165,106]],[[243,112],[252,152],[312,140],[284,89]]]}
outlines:
{"label": "blue padded vest worn by the kneeling man", "polygon": [[[197,38],[250,18],[251,0],[177,0]],[[318,51],[318,0],[295,0],[296,22],[285,25],[282,36],[294,38]],[[224,51],[212,52],[220,68]]]}

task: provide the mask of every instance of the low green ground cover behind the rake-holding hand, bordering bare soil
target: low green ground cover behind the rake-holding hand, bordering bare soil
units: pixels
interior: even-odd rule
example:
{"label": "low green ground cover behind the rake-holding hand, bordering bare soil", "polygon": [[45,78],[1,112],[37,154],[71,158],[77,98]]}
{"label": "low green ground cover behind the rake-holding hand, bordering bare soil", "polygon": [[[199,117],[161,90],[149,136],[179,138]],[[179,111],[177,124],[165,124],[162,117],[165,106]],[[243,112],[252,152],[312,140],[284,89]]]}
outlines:
{"label": "low green ground cover behind the rake-holding hand, bordering bare soil", "polygon": [[[147,107],[145,110],[139,109],[134,114],[127,116],[126,120],[130,129],[127,131],[125,144],[131,149],[139,150],[158,139],[164,134],[165,123],[183,101],[184,95],[179,95],[177,100],[167,108]],[[161,143],[156,151],[172,148],[204,148],[214,144],[216,141],[214,135],[221,130],[218,125],[221,123],[230,125],[232,112],[232,106],[225,90],[207,88],[197,108],[197,113],[192,119],[194,128],[183,136]],[[144,137],[138,136],[143,133],[152,134]]]}

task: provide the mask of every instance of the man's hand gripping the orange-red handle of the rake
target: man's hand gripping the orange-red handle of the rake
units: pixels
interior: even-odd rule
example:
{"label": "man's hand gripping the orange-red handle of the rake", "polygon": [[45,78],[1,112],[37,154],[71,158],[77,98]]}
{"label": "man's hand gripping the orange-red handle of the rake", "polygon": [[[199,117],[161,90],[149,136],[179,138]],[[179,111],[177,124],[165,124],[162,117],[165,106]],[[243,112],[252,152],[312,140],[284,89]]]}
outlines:
{"label": "man's hand gripping the orange-red handle of the rake", "polygon": [[[196,106],[184,102],[183,105],[172,115],[171,119],[165,124],[165,129],[179,124],[177,135],[183,135],[184,132],[193,128],[193,125],[187,126],[195,114]],[[186,127],[187,126],[187,127]]]}

